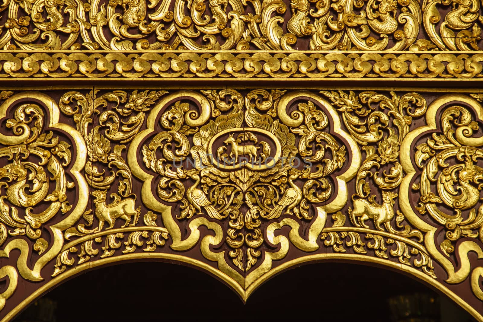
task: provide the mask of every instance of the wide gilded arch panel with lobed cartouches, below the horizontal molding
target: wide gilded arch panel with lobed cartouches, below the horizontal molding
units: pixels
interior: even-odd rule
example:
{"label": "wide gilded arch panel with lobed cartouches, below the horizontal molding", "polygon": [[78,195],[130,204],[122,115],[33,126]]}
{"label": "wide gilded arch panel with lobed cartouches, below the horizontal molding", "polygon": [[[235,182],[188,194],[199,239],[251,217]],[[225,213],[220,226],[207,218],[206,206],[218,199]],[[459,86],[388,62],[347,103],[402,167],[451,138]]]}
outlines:
{"label": "wide gilded arch panel with lobed cartouches, below the horizontal molding", "polygon": [[3,321],[80,271],[142,258],[201,267],[243,299],[300,263],[375,263],[483,320],[483,268],[468,256],[483,258],[481,92],[96,87],[0,99]]}

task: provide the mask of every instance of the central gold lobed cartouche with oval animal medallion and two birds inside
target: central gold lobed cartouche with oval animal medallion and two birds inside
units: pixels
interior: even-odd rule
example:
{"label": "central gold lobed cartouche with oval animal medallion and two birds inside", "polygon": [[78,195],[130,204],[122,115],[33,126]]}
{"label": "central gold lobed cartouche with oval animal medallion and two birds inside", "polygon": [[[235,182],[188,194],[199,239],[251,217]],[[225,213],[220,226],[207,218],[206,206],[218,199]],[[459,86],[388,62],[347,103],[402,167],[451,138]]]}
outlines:
{"label": "central gold lobed cartouche with oval animal medallion and two birds inside", "polygon": [[[288,103],[295,98],[300,102],[288,115]],[[192,110],[190,101],[198,111]],[[253,271],[253,275],[270,269],[270,252],[263,263],[259,259],[262,245],[280,243],[273,236],[278,225],[296,231],[301,221],[309,222],[313,231],[309,240],[297,235],[290,239],[300,249],[316,250],[319,246],[313,238],[323,226],[327,209],[320,205],[334,196],[339,198],[330,203],[330,209],[339,210],[344,204],[345,182],[355,175],[359,152],[352,139],[341,139],[343,132],[334,117],[331,105],[309,92],[260,89],[246,93],[244,99],[236,90],[173,93],[156,105],[148,117],[148,129],[134,138],[128,154],[139,151],[142,164],[129,158],[136,162],[130,167],[145,181],[142,198],[148,208],[162,209],[172,248],[192,248],[199,238],[193,230],[200,224],[218,232],[220,224],[228,222],[225,241],[234,267],[225,263],[225,251],[202,246],[202,252],[240,280],[241,272]],[[157,118],[159,125],[154,123]],[[351,164],[347,164],[348,150]],[[339,190],[331,182],[337,182]],[[174,202],[179,208],[170,206]],[[190,221],[192,233],[185,239],[178,225],[191,218],[195,219]],[[217,235],[210,244],[220,243]],[[286,251],[283,247],[276,256]]]}

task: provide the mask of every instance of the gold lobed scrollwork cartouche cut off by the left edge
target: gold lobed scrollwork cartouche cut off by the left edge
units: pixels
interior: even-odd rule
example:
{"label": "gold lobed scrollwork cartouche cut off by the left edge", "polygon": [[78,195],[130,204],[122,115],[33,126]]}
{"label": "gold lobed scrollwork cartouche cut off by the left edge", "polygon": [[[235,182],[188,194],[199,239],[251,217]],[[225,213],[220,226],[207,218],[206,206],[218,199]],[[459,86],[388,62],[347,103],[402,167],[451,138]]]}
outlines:
{"label": "gold lobed scrollwork cartouche cut off by the left edge", "polygon": [[[41,270],[61,250],[62,231],[79,219],[88,197],[80,173],[85,142],[74,128],[59,122],[57,102],[33,91],[2,91],[0,97],[0,257],[20,251],[16,267],[1,268],[2,277],[9,278],[0,294],[3,308],[18,274],[25,280],[44,279]],[[75,189],[81,194],[72,194]]]}

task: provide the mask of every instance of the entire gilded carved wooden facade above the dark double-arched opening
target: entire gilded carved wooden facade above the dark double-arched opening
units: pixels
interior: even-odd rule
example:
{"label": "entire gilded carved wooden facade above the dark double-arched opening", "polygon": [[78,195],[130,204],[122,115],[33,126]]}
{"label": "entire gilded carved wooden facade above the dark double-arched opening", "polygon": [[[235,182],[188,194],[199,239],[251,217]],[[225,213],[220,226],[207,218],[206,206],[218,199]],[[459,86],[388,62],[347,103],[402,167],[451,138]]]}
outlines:
{"label": "entire gilded carved wooden facade above the dark double-arched opening", "polygon": [[1,321],[138,260],[243,300],[369,263],[483,321],[481,5],[3,1]]}

